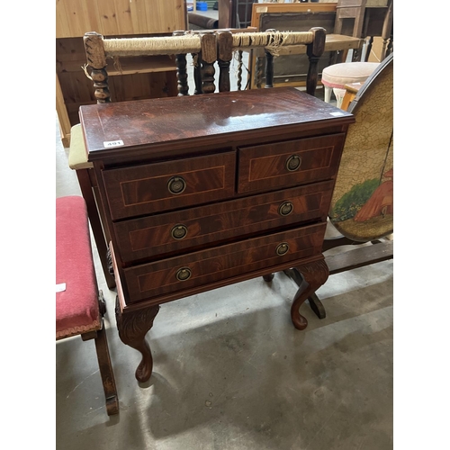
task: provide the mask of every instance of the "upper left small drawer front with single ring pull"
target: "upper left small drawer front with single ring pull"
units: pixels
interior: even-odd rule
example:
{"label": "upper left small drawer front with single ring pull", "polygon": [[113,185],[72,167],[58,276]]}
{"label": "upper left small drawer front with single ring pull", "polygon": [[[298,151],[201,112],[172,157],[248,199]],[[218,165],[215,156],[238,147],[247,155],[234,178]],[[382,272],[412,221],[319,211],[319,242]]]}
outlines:
{"label": "upper left small drawer front with single ring pull", "polygon": [[182,208],[234,193],[236,154],[103,171],[112,220]]}

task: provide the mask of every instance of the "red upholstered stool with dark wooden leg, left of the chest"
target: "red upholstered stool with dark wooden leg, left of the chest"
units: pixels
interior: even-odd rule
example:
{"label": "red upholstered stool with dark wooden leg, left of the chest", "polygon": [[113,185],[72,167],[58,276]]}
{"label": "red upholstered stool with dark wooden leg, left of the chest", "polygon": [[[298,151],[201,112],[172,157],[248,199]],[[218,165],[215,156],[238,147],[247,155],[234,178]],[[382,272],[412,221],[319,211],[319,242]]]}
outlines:
{"label": "red upholstered stool with dark wooden leg, left of the chest", "polygon": [[119,400],[103,327],[106,311],[98,290],[85,200],[56,199],[56,339],[93,339],[102,376],[106,411],[119,412]]}

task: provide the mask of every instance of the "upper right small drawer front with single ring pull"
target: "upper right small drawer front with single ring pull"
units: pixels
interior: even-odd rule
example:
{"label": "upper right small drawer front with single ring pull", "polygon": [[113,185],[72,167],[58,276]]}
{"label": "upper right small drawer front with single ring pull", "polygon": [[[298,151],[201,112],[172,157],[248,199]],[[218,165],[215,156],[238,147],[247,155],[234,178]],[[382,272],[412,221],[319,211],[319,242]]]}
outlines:
{"label": "upper right small drawer front with single ring pull", "polygon": [[345,133],[238,149],[238,192],[327,180],[336,175]]}

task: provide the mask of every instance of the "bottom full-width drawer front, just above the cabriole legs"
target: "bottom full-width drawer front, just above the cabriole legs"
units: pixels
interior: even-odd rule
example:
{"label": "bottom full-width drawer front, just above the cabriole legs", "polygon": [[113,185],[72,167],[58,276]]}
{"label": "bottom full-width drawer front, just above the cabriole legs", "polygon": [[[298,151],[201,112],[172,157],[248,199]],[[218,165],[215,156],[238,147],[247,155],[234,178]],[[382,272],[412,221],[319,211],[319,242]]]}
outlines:
{"label": "bottom full-width drawer front, just above the cabriole legs", "polygon": [[310,225],[124,269],[130,303],[243,273],[289,263],[321,251],[327,223]]}

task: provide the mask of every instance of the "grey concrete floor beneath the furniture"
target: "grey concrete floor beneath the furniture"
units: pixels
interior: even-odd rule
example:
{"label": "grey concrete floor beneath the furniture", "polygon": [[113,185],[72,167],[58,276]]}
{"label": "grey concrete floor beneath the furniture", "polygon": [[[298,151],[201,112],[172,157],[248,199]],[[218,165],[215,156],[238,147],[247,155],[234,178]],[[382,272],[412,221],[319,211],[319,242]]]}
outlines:
{"label": "grey concrete floor beneath the furniture", "polygon": [[[56,196],[80,194],[56,122]],[[94,241],[93,241],[94,245]],[[290,307],[297,286],[278,273],[161,307],[148,342],[153,374],[121,343],[115,292],[103,278],[106,332],[120,401],[107,416],[94,342],[56,343],[58,450],[387,450],[393,447],[393,261],[331,275],[308,303],[303,331]]]}

